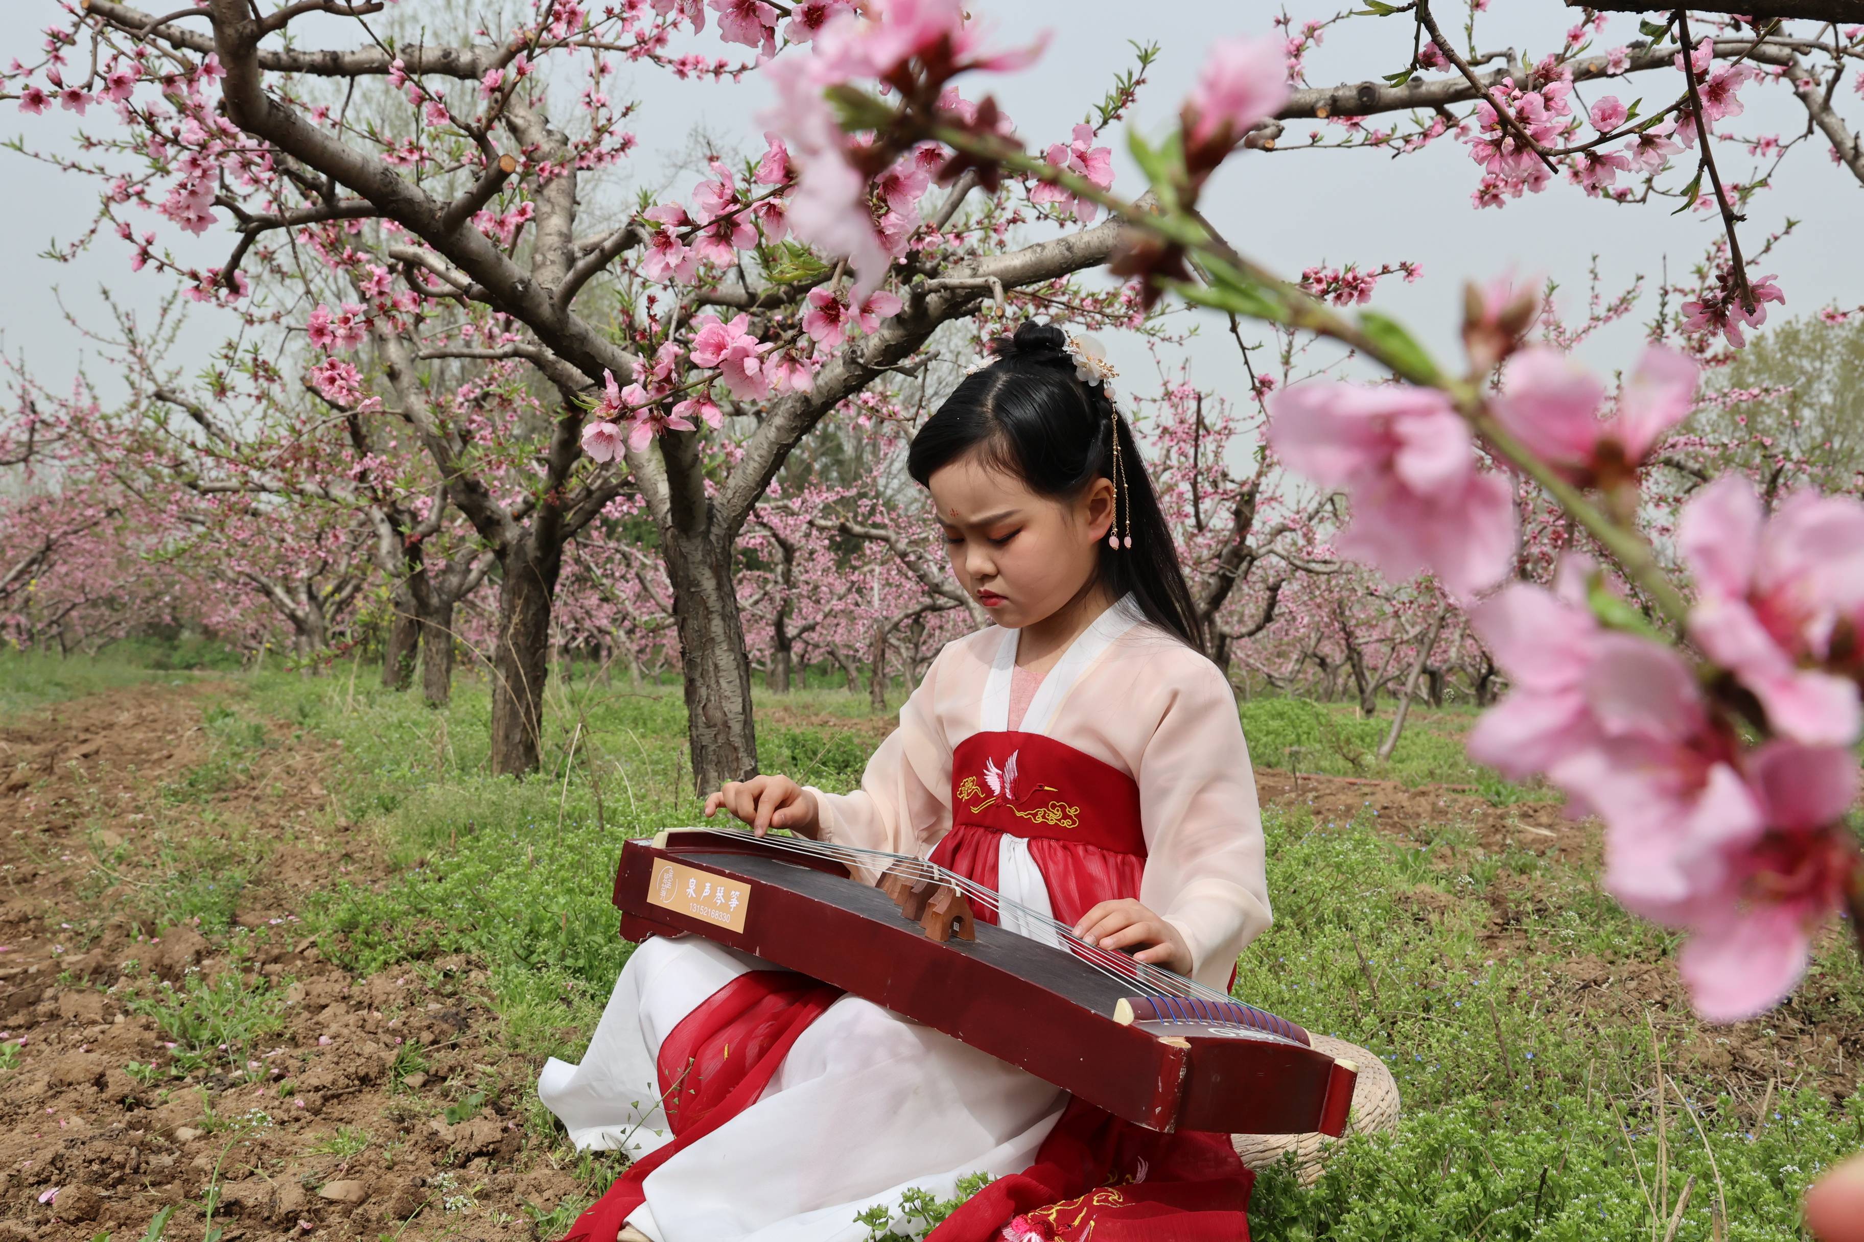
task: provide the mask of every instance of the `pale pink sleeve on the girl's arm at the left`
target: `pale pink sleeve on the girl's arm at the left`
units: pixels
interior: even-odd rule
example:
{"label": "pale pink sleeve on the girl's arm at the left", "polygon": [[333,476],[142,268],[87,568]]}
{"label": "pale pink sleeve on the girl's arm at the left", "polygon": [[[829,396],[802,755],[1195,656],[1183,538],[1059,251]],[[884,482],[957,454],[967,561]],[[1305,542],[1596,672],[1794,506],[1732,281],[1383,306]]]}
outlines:
{"label": "pale pink sleeve on the girl's arm at the left", "polygon": [[900,726],[867,762],[859,790],[824,793],[809,788],[824,840],[925,857],[951,830],[951,747],[932,708],[941,663],[945,654],[932,661],[925,682],[900,708]]}

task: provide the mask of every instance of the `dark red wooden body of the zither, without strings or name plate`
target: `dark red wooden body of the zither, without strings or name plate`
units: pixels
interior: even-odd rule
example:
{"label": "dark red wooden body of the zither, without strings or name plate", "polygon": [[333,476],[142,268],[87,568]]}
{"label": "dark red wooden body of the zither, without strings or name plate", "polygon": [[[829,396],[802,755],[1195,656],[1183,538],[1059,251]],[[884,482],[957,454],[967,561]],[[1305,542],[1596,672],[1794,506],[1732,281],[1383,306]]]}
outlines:
{"label": "dark red wooden body of the zither, without strings or name plate", "polygon": [[[727,877],[749,894],[744,929],[649,899],[656,862]],[[621,935],[695,933],[945,1032],[1154,1130],[1340,1134],[1353,1071],[1305,1045],[1200,1037],[1167,1041],[1113,1020],[1120,983],[1062,950],[979,924],[977,940],[939,944],[880,890],[835,862],[755,838],[677,834],[628,842],[615,875]],[[1124,985],[1130,989],[1131,985]]]}

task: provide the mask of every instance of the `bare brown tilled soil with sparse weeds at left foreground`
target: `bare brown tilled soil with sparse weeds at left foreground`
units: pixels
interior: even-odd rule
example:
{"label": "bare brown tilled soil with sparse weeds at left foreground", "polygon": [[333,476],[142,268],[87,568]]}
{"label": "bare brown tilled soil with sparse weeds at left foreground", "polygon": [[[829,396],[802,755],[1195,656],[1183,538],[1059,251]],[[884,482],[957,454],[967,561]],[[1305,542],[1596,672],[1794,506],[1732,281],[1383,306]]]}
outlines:
{"label": "bare brown tilled soil with sparse weeds at left foreground", "polygon": [[[0,730],[0,1242],[529,1238],[528,1065],[464,959],[354,978],[300,914],[386,873],[326,743],[226,683]],[[211,1212],[211,1218],[209,1218]],[[554,1225],[557,1222],[550,1222]]]}

